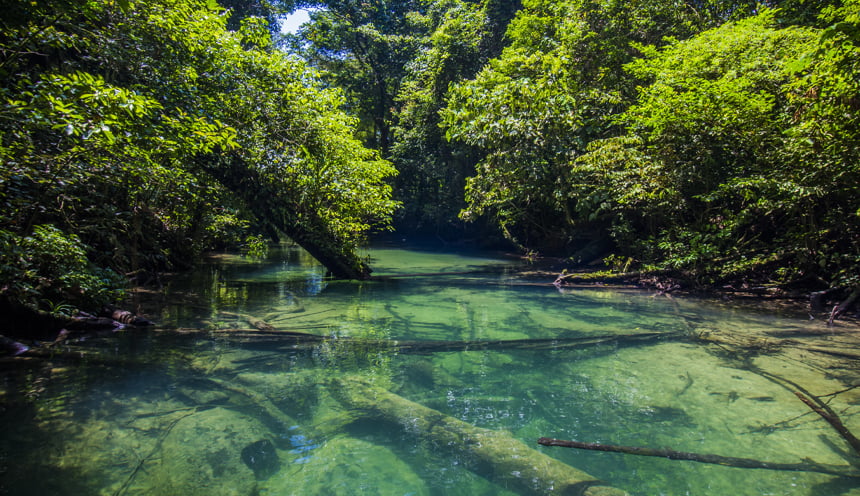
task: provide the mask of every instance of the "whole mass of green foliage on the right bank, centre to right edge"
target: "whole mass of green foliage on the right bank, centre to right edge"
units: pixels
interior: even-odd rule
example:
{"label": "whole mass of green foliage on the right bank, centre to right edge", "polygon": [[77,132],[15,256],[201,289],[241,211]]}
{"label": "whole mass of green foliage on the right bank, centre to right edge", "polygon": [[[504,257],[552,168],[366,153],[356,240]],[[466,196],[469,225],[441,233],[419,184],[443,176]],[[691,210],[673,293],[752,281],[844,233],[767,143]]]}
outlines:
{"label": "whole mass of green foliage on the right bank, centre to right edge", "polygon": [[706,283],[852,284],[860,3],[827,5],[524,2],[441,110],[483,157],[461,215]]}

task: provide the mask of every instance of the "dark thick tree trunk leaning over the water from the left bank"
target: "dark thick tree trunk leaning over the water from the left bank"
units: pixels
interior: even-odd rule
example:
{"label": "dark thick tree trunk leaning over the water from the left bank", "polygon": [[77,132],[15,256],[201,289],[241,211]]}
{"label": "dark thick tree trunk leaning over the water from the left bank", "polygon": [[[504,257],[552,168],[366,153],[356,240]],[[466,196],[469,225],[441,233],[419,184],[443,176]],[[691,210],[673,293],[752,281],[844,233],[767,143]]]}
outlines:
{"label": "dark thick tree trunk leaning over the water from the left bank", "polygon": [[[205,159],[204,159],[205,161]],[[370,267],[355,249],[340,239],[320,216],[286,197],[259,171],[236,156],[206,161],[206,171],[245,201],[262,222],[268,223],[307,250],[337,279],[369,279]]]}

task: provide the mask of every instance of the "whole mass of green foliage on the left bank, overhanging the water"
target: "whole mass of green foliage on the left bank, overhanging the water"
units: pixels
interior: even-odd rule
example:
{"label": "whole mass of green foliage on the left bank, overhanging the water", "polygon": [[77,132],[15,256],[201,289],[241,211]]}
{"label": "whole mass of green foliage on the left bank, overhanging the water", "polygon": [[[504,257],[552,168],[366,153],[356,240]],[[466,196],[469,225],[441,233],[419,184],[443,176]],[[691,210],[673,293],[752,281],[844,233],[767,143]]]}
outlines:
{"label": "whole mass of green foliage on the left bank, overhanging the water", "polygon": [[[274,50],[265,20],[244,17],[229,31],[223,9],[202,0],[32,7],[15,3],[0,34],[0,229],[9,239],[75,247],[69,274],[104,282],[93,267],[182,267],[204,249],[248,239],[259,248],[261,233],[287,226],[348,255],[371,225],[386,224],[393,169],[353,137],[342,94]],[[246,173],[241,184],[219,169],[233,162]],[[271,213],[254,208],[255,188],[270,192]],[[36,226],[53,226],[50,239]],[[52,285],[28,276],[6,296],[102,298],[94,280],[48,266],[32,270],[56,276]],[[32,271],[15,256],[4,267]]]}

